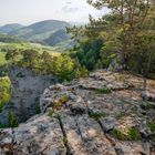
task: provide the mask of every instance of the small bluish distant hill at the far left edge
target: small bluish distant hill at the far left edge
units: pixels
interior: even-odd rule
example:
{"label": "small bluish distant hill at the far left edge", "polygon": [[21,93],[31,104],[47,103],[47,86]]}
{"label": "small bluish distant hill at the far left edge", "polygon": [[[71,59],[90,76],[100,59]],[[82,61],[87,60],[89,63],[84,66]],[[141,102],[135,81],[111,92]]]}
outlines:
{"label": "small bluish distant hill at the far left edge", "polygon": [[21,28],[23,28],[23,25],[21,25],[19,23],[6,24],[3,27],[0,27],[0,33],[8,34],[8,33],[16,31],[18,29],[21,29]]}

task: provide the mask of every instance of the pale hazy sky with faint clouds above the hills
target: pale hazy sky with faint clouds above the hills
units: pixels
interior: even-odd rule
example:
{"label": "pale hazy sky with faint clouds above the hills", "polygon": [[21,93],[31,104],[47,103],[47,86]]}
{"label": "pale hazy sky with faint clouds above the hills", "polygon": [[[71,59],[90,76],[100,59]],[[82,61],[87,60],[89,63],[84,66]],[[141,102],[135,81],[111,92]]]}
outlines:
{"label": "pale hazy sky with faint clouds above the hills", "polygon": [[0,25],[21,23],[28,25],[42,20],[87,22],[89,14],[101,17],[101,11],[86,0],[0,0]]}

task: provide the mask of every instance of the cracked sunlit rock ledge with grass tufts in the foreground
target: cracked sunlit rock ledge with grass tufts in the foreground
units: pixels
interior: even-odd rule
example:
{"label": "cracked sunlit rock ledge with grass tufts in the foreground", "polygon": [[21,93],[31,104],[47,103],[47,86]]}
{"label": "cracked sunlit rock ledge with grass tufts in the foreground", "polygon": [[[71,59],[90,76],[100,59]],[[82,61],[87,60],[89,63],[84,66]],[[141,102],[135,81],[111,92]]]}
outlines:
{"label": "cracked sunlit rock ledge with grass tufts in the foreground", "polygon": [[146,93],[142,87],[141,78],[104,71],[51,85],[40,97],[40,115],[0,131],[0,153],[155,155],[147,124],[155,120],[155,81]]}

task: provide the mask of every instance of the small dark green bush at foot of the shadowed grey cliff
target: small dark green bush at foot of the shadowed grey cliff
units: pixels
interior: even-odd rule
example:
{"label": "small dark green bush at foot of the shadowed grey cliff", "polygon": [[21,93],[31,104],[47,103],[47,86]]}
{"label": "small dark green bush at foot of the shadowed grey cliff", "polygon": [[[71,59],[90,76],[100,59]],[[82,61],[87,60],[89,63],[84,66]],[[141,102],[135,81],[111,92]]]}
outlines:
{"label": "small dark green bush at foot of the shadowed grey cliff", "polygon": [[8,113],[8,121],[10,127],[17,127],[19,125],[17,116],[14,115],[13,112]]}

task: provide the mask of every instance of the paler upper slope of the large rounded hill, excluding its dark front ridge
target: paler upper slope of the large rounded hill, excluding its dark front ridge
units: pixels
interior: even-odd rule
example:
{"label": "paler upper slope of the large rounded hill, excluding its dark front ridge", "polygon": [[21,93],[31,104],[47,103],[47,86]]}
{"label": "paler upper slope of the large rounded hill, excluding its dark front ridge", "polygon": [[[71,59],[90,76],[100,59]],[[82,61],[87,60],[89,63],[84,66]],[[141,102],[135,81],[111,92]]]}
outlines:
{"label": "paler upper slope of the large rounded hill, excluding its dark front ridge", "polygon": [[70,27],[70,24],[64,21],[45,20],[33,23],[29,27],[21,28],[17,31],[12,31],[9,34],[17,35],[19,38],[27,39],[33,42],[42,42],[52,33],[56,32],[60,29],[65,29],[65,27]]}

